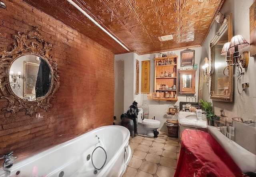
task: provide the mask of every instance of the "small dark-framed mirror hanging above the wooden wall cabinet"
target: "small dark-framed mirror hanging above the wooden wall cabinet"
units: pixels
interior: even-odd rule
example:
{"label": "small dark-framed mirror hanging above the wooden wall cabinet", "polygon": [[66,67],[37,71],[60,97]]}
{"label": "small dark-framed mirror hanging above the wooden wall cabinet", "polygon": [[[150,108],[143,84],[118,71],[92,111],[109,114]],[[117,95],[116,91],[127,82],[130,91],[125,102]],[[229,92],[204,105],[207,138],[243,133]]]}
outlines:
{"label": "small dark-framed mirror hanging above the wooden wall cabinet", "polygon": [[185,49],[180,52],[180,67],[193,66],[195,60],[195,50]]}

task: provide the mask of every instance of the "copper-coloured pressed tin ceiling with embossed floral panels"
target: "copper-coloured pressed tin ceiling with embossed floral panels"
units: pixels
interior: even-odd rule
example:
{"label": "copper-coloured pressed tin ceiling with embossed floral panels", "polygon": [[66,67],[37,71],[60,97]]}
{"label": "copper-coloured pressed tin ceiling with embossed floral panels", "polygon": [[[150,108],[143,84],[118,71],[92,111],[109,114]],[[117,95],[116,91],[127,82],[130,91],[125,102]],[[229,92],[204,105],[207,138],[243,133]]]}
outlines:
{"label": "copper-coloured pressed tin ceiling with embossed floral panels", "polygon": [[[200,46],[225,0],[73,0],[138,55]],[[24,0],[115,54],[128,51],[67,0]],[[160,42],[158,37],[172,34]]]}

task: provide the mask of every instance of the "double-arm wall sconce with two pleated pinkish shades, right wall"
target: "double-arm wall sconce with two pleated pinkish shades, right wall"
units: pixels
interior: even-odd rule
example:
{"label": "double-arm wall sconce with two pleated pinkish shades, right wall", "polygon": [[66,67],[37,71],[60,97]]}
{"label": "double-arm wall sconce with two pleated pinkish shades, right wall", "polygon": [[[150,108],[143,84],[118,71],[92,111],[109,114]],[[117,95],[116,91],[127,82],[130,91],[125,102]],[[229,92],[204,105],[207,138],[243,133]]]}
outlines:
{"label": "double-arm wall sconce with two pleated pinkish shades, right wall", "polygon": [[[243,68],[246,68],[248,67],[248,63],[249,63],[248,51],[244,51],[242,55],[239,55],[238,50],[248,45],[249,43],[244,39],[244,37],[242,37],[242,35],[235,35],[234,37],[232,37],[230,42],[227,42],[224,44],[222,51],[220,53],[220,55],[227,55],[228,66],[236,65],[238,67],[238,76],[244,74],[244,72],[242,72],[242,68],[240,67],[240,65],[242,65]],[[232,53],[234,53],[233,62],[230,56],[230,54]],[[224,75],[225,75],[224,71],[226,68],[228,68],[228,66],[226,66],[223,70]]]}

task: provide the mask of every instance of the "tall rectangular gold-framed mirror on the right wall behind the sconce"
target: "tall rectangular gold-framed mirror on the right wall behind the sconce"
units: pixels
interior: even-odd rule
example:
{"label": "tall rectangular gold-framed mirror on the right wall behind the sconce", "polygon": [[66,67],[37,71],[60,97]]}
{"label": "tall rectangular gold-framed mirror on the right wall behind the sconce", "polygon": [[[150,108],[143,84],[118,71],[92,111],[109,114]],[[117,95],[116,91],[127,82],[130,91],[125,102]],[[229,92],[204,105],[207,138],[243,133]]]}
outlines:
{"label": "tall rectangular gold-framed mirror on the right wall behind the sconce", "polygon": [[[222,26],[210,42],[211,51],[211,87],[210,99],[215,101],[233,102],[234,71],[228,66],[228,74],[224,73],[227,66],[226,56],[220,55],[223,45],[233,37],[232,14],[226,16]],[[231,59],[233,57],[231,56]],[[233,62],[233,61],[232,61]]]}

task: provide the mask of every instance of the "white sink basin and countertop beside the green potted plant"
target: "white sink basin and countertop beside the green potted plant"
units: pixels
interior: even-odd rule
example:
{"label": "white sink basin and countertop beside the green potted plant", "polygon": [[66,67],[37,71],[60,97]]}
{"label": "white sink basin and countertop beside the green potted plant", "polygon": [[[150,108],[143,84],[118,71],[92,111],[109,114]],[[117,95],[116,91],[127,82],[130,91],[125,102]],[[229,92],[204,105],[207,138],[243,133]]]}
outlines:
{"label": "white sink basin and countertop beside the green potted plant", "polygon": [[180,125],[192,128],[207,128],[206,116],[202,115],[201,120],[197,120],[195,112],[180,111],[178,114]]}

